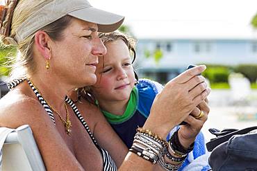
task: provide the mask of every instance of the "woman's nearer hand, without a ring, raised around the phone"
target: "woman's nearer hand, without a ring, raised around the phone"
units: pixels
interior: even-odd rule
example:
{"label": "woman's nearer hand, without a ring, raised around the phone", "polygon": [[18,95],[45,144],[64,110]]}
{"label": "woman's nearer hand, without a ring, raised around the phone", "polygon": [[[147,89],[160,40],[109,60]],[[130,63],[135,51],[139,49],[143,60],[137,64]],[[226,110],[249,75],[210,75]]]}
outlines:
{"label": "woman's nearer hand, without a ring, raised around the phone", "polygon": [[195,66],[169,81],[151,107],[145,129],[165,138],[169,130],[179,125],[210,93],[201,75],[206,66]]}

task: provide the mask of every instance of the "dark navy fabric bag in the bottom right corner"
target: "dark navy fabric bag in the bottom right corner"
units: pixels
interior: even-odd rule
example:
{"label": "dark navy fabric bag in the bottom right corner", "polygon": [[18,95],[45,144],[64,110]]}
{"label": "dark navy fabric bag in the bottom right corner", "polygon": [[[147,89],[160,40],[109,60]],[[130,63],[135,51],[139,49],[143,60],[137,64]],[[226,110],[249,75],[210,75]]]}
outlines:
{"label": "dark navy fabric bag in the bottom right corner", "polygon": [[257,170],[257,133],[234,135],[213,150],[208,159],[213,171]]}

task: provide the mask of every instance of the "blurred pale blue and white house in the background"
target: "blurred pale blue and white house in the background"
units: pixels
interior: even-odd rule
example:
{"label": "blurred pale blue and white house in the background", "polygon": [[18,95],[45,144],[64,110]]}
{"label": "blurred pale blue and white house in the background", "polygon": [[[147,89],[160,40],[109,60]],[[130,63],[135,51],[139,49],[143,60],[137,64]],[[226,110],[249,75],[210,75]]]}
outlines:
{"label": "blurred pale blue and white house in the background", "polygon": [[[144,24],[144,28],[151,29]],[[173,21],[160,24],[157,36],[144,34],[144,29],[133,28],[138,37],[135,64],[140,77],[151,77],[160,82],[174,78],[188,64],[257,64],[257,31],[222,21]],[[142,31],[142,32],[141,32]],[[158,63],[153,53],[160,49],[163,57]]]}

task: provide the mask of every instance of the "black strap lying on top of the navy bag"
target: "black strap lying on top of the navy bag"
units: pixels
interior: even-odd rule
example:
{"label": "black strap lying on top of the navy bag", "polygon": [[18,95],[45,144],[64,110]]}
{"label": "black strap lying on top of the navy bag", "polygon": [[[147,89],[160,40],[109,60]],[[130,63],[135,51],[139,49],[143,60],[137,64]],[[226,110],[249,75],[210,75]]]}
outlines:
{"label": "black strap lying on top of the navy bag", "polygon": [[[217,145],[220,145],[228,141],[229,138],[231,138],[232,136],[247,134],[253,131],[254,129],[257,129],[257,126],[247,127],[244,129],[233,131],[233,132],[229,132],[229,130],[235,130],[235,129],[225,129],[224,131],[219,131],[218,129],[209,129],[210,133],[215,134],[217,138],[213,138],[210,140],[210,142],[206,143],[207,150],[208,152],[211,152],[215,147],[217,147]],[[225,132],[227,132],[227,134]]]}

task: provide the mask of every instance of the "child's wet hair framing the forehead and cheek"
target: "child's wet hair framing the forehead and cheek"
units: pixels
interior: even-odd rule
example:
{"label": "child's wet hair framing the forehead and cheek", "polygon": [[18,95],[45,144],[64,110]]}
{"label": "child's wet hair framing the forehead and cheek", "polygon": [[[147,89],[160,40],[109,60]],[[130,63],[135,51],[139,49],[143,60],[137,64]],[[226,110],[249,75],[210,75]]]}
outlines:
{"label": "child's wet hair framing the forehead and cheek", "polygon": [[[125,35],[124,33],[121,33],[119,31],[114,31],[111,33],[99,33],[99,38],[103,42],[104,45],[106,45],[108,42],[113,42],[118,39],[122,39],[122,41],[128,46],[128,51],[133,57],[132,64],[135,62],[135,39],[133,37],[130,37],[128,35]],[[135,69],[134,69],[135,73]],[[135,79],[138,81],[138,75],[135,73]],[[85,100],[88,100],[89,102],[95,103],[95,98],[90,92],[90,87],[83,87],[78,89],[78,100],[81,100],[81,98],[84,98]]]}

